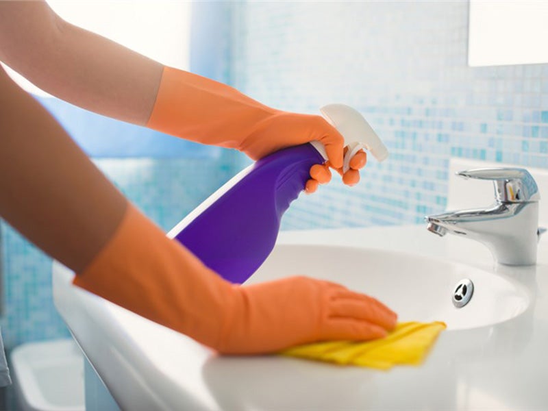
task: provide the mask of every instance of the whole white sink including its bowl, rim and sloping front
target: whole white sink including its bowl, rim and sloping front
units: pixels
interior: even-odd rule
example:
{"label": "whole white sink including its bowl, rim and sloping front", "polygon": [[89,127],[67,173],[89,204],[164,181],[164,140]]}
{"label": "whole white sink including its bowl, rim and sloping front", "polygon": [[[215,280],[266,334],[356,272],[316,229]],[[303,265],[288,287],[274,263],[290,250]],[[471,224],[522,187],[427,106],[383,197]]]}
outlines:
{"label": "whole white sink including its bowl, rim and sloping front", "polygon": [[[454,164],[451,171],[479,166]],[[534,177],[548,192],[548,173]],[[481,185],[450,179],[448,208],[492,201],[490,183],[472,191],[475,183]],[[539,224],[548,226],[541,206]],[[536,266],[511,267],[493,264],[477,242],[438,238],[425,225],[283,232],[251,282],[288,275],[342,283],[384,301],[401,321],[445,321],[448,329],[424,364],[384,372],[279,356],[217,356],[73,286],[73,273],[60,264],[53,267],[53,297],[123,410],[548,409],[548,234]],[[455,308],[452,293],[465,278],[474,284],[473,297]]]}

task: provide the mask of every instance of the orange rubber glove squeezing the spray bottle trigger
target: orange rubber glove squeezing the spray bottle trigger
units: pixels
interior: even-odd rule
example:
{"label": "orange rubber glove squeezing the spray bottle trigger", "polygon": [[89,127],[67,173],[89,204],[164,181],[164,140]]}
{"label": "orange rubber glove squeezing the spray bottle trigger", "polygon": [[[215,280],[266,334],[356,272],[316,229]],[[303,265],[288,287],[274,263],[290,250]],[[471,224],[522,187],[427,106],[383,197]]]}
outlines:
{"label": "orange rubber glove squeezing the spray bottle trigger", "polygon": [[[318,140],[334,169],[343,167],[344,138],[321,116],[275,110],[235,88],[186,71],[164,67],[147,127],[207,145],[238,149],[252,160],[305,142]],[[362,151],[363,152],[363,151]],[[356,184],[365,165],[356,155],[345,184]],[[351,164],[352,167],[352,164]],[[329,169],[324,167],[329,174]],[[307,192],[329,181],[311,173]],[[317,173],[316,173],[317,174]]]}

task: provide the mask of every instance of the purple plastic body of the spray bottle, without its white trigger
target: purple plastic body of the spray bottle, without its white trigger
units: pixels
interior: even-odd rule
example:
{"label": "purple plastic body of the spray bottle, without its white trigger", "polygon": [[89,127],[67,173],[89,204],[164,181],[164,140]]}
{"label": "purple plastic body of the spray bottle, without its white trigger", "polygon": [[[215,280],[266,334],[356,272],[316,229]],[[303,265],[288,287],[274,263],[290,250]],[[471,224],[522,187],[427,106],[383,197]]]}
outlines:
{"label": "purple plastic body of the spray bottle, without its white trigger", "polygon": [[325,160],[310,144],[277,151],[201,212],[175,238],[229,282],[245,282],[270,255],[282,215]]}

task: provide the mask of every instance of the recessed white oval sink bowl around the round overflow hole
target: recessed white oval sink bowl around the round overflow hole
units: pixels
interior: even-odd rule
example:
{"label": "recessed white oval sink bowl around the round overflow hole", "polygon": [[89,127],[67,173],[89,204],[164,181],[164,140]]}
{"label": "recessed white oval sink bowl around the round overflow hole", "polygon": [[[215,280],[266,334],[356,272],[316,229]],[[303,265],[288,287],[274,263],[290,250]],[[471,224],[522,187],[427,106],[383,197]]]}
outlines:
{"label": "recessed white oval sink bowl around the round overflow hole", "polygon": [[[510,279],[458,262],[400,251],[322,245],[278,245],[251,282],[307,275],[371,295],[400,321],[444,321],[447,329],[501,323],[529,306],[527,292]],[[470,302],[453,306],[458,282],[474,284]]]}

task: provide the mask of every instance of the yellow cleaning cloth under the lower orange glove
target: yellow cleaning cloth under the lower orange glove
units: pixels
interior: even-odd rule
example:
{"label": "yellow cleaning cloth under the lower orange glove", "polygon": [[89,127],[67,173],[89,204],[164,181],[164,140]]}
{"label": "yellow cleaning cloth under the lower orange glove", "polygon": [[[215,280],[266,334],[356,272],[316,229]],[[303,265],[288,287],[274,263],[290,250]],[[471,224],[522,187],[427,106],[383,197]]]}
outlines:
{"label": "yellow cleaning cloth under the lower orange glove", "polygon": [[326,341],[291,347],[284,356],[307,358],[342,365],[369,366],[387,370],[395,364],[421,364],[445,323],[399,323],[393,332],[366,342]]}

